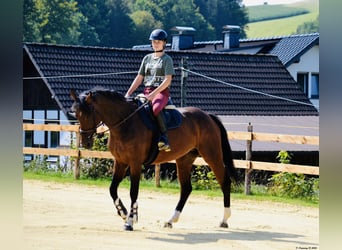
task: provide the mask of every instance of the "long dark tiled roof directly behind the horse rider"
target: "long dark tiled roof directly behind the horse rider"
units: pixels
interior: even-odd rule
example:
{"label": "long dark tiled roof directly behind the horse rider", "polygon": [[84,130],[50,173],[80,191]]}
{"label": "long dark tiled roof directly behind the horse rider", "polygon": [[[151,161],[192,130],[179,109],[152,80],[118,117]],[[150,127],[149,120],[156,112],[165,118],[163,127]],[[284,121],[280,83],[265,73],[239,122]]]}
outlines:
{"label": "long dark tiled roof directly behind the horse rider", "polygon": [[[42,77],[65,113],[72,105],[69,96],[72,88],[80,92],[102,86],[124,94],[143,56],[149,52],[24,44],[24,56],[33,63],[37,76]],[[176,67],[170,89],[176,106],[181,103],[181,69],[178,66],[182,58],[187,58],[190,73],[186,82],[186,106],[196,106],[218,115],[318,115],[276,56],[196,51],[167,53]],[[24,81],[28,79],[24,76]]]}

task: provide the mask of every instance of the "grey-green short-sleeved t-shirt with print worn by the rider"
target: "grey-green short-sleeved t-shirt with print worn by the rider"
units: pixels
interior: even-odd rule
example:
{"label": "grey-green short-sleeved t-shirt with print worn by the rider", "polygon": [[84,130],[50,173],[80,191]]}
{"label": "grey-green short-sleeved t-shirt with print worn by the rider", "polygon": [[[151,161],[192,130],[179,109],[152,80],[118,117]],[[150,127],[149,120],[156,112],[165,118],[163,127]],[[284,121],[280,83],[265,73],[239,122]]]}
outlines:
{"label": "grey-green short-sleeved t-shirt with print worn by the rider", "polygon": [[144,85],[146,87],[158,87],[166,75],[174,75],[172,58],[164,54],[161,57],[154,57],[154,54],[148,54],[144,57],[139,74],[144,76]]}

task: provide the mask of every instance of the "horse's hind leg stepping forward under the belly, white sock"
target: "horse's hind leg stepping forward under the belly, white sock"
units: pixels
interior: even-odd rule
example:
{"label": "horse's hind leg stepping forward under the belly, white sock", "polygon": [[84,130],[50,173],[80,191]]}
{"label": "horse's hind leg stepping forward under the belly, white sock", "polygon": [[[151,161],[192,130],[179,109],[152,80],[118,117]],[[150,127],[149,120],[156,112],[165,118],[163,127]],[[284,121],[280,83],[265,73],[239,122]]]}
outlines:
{"label": "horse's hind leg stepping forward under the belly, white sock", "polygon": [[191,152],[176,160],[177,175],[180,183],[180,199],[177,203],[174,214],[171,216],[170,220],[165,223],[164,227],[172,228],[172,223],[178,221],[180,214],[185,206],[185,203],[192,191],[191,168],[192,163],[196,159],[197,155],[197,152]]}

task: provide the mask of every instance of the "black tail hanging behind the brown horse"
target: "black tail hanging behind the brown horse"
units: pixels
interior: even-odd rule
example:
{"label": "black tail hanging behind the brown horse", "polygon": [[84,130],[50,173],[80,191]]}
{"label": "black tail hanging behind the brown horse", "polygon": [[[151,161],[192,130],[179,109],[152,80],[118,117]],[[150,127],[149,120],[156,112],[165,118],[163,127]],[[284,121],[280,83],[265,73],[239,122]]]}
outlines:
{"label": "black tail hanging behind the brown horse", "polygon": [[221,132],[221,148],[223,154],[223,162],[228,170],[228,175],[232,180],[238,182],[238,175],[236,168],[234,166],[233,154],[228,141],[227,131],[223,126],[221,120],[216,115],[210,114],[210,117],[215,121]]}

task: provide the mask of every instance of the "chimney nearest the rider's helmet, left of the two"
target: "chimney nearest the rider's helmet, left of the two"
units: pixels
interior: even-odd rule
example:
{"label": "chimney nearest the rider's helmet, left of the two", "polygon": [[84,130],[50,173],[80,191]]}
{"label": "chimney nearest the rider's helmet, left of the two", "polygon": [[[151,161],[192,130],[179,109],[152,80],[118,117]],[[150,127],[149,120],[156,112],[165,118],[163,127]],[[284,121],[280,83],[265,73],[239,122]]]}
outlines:
{"label": "chimney nearest the rider's helmet, left of the two", "polygon": [[172,50],[192,49],[194,47],[195,29],[192,27],[175,26],[171,28],[172,34]]}

